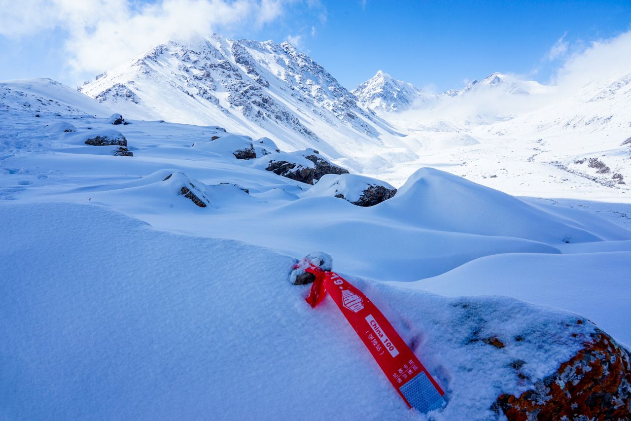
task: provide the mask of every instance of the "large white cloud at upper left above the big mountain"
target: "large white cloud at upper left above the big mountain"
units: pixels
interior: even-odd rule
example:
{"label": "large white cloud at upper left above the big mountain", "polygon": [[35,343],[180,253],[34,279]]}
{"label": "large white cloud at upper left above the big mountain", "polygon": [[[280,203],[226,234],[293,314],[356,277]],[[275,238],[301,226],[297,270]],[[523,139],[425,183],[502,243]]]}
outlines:
{"label": "large white cloud at upper left above the big mountain", "polygon": [[61,28],[68,64],[99,72],[169,39],[260,28],[294,0],[28,0],[0,3],[0,35],[21,37]]}

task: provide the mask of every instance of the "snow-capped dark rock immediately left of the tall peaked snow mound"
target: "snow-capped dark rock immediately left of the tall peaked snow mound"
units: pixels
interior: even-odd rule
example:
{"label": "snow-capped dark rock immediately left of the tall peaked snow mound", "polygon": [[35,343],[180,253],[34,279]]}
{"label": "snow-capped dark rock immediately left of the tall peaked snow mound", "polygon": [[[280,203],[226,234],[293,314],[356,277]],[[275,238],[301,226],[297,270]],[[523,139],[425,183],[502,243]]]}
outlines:
{"label": "snow-capped dark rock immediately left of the tall peaked snow mound", "polygon": [[385,181],[357,174],[326,174],[305,196],[334,196],[357,206],[374,206],[394,196],[396,189]]}

